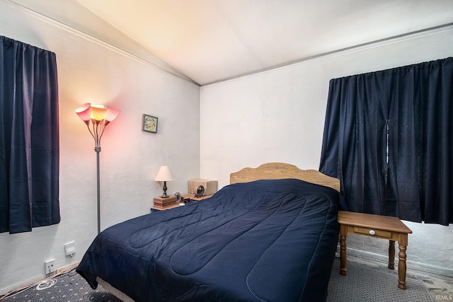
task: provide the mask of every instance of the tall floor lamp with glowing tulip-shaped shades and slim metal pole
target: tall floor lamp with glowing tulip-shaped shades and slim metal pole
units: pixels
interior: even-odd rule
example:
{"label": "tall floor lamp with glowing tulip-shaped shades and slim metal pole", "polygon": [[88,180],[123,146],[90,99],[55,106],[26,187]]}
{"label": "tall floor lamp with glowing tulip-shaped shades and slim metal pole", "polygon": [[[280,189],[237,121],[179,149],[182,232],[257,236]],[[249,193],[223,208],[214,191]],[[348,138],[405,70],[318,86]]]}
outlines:
{"label": "tall floor lamp with glowing tulip-shaped shades and slim metal pole", "polygon": [[96,180],[98,189],[98,233],[101,233],[101,193],[99,190],[99,152],[101,152],[101,137],[105,127],[115,120],[120,110],[108,108],[104,105],[91,105],[86,103],[76,109],[77,115],[88,127],[88,131],[94,139],[94,151],[96,152]]}

